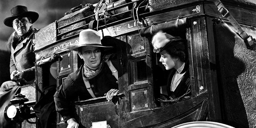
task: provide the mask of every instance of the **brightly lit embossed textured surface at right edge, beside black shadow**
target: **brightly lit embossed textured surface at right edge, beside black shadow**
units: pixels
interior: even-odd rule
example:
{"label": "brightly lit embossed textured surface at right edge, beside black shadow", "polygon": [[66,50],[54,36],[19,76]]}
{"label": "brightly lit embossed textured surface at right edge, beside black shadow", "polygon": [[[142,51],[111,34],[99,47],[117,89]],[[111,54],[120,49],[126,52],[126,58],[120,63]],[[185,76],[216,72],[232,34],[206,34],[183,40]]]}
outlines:
{"label": "brightly lit embossed textured surface at right edge, beside black shadow", "polygon": [[[256,34],[255,34],[256,36]],[[256,51],[248,50],[236,37],[234,57],[242,61],[245,70],[237,77],[238,88],[244,102],[250,128],[256,127]]]}

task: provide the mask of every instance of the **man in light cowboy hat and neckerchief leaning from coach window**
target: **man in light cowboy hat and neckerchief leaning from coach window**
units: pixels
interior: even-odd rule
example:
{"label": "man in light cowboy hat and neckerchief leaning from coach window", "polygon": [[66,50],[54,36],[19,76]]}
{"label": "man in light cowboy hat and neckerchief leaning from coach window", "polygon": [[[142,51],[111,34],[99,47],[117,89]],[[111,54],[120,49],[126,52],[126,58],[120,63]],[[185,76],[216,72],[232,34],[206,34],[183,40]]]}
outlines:
{"label": "man in light cowboy hat and neckerchief leaning from coach window", "polygon": [[118,94],[118,61],[112,60],[112,54],[105,54],[112,47],[102,46],[100,34],[91,29],[82,30],[78,46],[69,49],[77,51],[84,64],[57,87],[54,101],[68,128],[78,128],[76,111],[70,102],[78,97],[87,100],[106,96],[108,101],[112,100]]}

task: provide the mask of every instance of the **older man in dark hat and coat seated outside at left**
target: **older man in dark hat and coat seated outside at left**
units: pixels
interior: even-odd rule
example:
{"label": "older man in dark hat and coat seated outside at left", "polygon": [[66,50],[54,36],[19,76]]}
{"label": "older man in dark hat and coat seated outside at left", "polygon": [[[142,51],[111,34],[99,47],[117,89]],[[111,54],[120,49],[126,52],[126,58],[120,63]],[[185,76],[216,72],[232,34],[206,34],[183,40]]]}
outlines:
{"label": "older man in dark hat and coat seated outside at left", "polygon": [[[37,12],[28,11],[26,6],[21,5],[12,8],[11,14],[12,16],[4,19],[4,24],[15,30],[8,40],[11,51],[10,78],[13,81],[4,82],[0,88],[0,110],[8,105],[15,94],[20,93],[18,86],[31,84],[35,78],[32,35],[37,29],[33,28],[32,23],[38,19],[39,15]],[[0,116],[0,126],[4,127],[6,123],[3,120]]]}

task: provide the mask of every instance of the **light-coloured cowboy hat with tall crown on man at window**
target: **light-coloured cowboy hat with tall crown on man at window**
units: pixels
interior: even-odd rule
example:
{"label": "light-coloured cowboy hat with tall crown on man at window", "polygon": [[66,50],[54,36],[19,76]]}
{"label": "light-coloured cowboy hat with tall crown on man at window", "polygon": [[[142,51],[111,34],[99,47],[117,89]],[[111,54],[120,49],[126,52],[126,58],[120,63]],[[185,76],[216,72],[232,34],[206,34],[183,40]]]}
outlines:
{"label": "light-coloured cowboy hat with tall crown on man at window", "polygon": [[104,48],[105,51],[113,48],[111,46],[103,46],[101,44],[101,40],[100,40],[100,33],[95,30],[92,30],[92,29],[82,30],[79,33],[78,45],[73,46],[68,49],[78,51],[78,48],[83,47],[83,46],[101,47],[101,48]]}

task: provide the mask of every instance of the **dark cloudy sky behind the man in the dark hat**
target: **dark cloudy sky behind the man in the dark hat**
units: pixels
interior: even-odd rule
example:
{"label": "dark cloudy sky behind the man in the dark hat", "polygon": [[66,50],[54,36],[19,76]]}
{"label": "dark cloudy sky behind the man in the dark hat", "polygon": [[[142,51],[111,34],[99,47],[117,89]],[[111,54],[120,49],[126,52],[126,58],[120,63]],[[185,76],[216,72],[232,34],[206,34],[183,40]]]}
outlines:
{"label": "dark cloudy sky behind the man in the dark hat", "polygon": [[10,10],[17,5],[23,5],[28,11],[39,14],[34,22],[35,28],[42,28],[63,17],[65,12],[80,4],[95,4],[98,0],[0,0],[0,85],[10,80],[10,52],[7,40],[14,29],[4,25],[4,19],[11,16]]}

